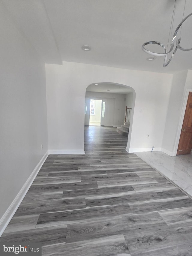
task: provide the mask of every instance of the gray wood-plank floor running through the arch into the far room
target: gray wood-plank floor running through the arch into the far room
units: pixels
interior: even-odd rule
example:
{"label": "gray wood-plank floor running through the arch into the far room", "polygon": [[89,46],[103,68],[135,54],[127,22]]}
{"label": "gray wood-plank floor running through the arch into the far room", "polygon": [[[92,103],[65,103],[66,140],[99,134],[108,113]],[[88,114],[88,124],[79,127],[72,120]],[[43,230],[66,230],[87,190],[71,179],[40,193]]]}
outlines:
{"label": "gray wood-plank floor running through the arch into the far room", "polygon": [[85,155],[49,155],[0,242],[42,255],[191,256],[192,200],[113,127],[85,127]]}

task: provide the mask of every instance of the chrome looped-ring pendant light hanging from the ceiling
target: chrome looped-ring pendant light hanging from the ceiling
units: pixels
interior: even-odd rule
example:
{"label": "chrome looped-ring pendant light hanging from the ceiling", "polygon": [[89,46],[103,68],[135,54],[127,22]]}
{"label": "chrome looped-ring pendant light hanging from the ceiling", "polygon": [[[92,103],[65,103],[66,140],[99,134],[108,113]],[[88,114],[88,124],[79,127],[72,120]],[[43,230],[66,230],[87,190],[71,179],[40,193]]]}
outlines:
{"label": "chrome looped-ring pendant light hanging from the ceiling", "polygon": [[[171,33],[171,28],[173,29],[173,20],[174,20],[175,9],[176,9],[176,0],[174,0],[174,1],[175,1],[175,5],[174,5],[173,16],[172,16],[172,20],[171,20],[170,33]],[[185,3],[186,3],[186,0],[185,0]],[[184,6],[184,9],[185,9],[185,6]],[[192,50],[192,48],[190,48],[190,49],[185,49],[185,48],[182,48],[182,47],[180,46],[181,37],[179,37],[179,38],[176,40],[176,36],[177,36],[178,30],[180,29],[180,27],[182,26],[182,24],[184,23],[184,21],[187,20],[191,15],[192,15],[192,13],[189,14],[189,15],[187,15],[187,17],[185,17],[185,18],[182,20],[182,22],[180,22],[179,25],[177,26],[177,28],[176,28],[176,30],[175,30],[175,32],[174,32],[174,34],[173,34],[173,38],[172,38],[172,42],[171,42],[171,47],[170,47],[170,50],[169,50],[169,51],[166,49],[166,47],[164,46],[164,44],[161,44],[160,42],[157,42],[157,41],[149,41],[149,42],[144,43],[144,44],[142,45],[142,50],[143,50],[144,52],[146,52],[146,53],[149,53],[150,55],[153,55],[153,56],[164,56],[164,57],[165,57],[165,59],[164,59],[164,64],[163,64],[164,68],[167,67],[167,65],[168,65],[168,64],[170,63],[170,61],[173,59],[173,57],[174,57],[174,55],[175,55],[177,49],[182,50],[182,51],[190,51],[190,50]],[[183,11],[183,16],[184,16],[184,11]],[[170,38],[170,33],[169,33],[169,38]],[[175,49],[173,50],[175,41],[176,41],[176,47],[175,47]],[[169,39],[168,39],[168,43],[169,43]],[[147,50],[147,49],[145,48],[145,46],[148,45],[148,44],[157,44],[157,45],[160,45],[161,47],[164,48],[165,53],[155,53],[155,52],[151,52],[151,51]],[[167,47],[168,47],[168,45],[167,45]],[[171,53],[172,51],[173,51],[173,53],[172,53],[170,59],[167,61],[168,54]],[[147,59],[148,59],[148,58],[147,58]],[[148,59],[148,60],[149,60],[149,59]]]}

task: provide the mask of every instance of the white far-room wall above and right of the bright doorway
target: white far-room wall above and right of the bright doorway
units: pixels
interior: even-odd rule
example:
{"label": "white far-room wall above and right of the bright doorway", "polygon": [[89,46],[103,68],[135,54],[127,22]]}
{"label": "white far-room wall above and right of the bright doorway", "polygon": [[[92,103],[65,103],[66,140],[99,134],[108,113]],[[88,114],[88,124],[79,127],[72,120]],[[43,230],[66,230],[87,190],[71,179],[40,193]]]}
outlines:
{"label": "white far-room wall above and right of the bright doorway", "polygon": [[86,98],[98,98],[106,101],[105,126],[120,126],[125,119],[125,94],[86,92]]}

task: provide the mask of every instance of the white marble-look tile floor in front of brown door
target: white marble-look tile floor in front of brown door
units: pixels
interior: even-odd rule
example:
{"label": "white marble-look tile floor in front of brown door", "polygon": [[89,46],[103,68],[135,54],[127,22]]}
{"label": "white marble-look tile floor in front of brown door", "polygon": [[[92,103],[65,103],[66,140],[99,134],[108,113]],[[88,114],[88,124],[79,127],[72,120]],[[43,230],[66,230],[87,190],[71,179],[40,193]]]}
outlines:
{"label": "white marble-look tile floor in front of brown door", "polygon": [[161,151],[135,154],[192,198],[192,155],[169,156]]}

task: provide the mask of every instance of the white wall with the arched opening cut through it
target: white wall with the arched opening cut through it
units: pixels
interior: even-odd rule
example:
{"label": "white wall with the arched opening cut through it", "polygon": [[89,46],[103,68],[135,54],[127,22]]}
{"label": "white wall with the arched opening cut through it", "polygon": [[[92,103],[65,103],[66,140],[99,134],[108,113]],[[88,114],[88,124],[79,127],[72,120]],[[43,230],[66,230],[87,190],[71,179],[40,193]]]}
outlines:
{"label": "white wall with the arched opening cut through it", "polygon": [[[91,83],[134,89],[128,151],[161,149],[171,74],[63,62],[46,65],[48,144],[52,152],[83,152],[85,91]],[[75,105],[78,105],[76,114]],[[124,103],[125,104],[125,103]],[[73,118],[76,116],[76,118]],[[78,129],[76,129],[78,123]]]}

